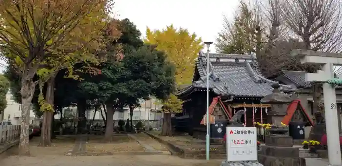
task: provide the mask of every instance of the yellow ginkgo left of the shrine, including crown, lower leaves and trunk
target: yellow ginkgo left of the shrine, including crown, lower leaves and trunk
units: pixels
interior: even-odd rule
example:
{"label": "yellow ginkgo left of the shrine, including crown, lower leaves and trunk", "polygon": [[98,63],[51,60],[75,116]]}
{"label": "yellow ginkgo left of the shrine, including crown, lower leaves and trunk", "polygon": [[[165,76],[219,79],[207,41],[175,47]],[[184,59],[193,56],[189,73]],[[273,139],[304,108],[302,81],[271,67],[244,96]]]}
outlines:
{"label": "yellow ginkgo left of the shrine, including crown, lower leaves and trunk", "polygon": [[[197,37],[195,33],[189,33],[187,29],[176,29],[170,25],[163,30],[151,31],[150,28],[147,28],[144,42],[156,45],[158,50],[167,54],[168,60],[176,67],[177,85],[192,83],[195,59],[203,48],[200,37]],[[168,99],[160,102],[164,112],[161,134],[171,136],[171,114],[182,112],[182,101],[175,94],[170,94]]]}

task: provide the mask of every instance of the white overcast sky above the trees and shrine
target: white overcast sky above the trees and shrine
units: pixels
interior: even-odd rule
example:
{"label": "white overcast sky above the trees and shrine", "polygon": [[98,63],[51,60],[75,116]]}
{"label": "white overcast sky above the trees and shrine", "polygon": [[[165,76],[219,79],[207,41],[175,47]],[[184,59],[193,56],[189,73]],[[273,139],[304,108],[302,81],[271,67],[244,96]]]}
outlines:
{"label": "white overcast sky above the trees and shrine", "polygon": [[[239,0],[115,0],[118,19],[129,18],[145,35],[146,27],[175,27],[195,32],[202,40],[215,43],[223,16],[232,18]],[[214,52],[214,45],[211,46]],[[4,62],[1,62],[3,64]],[[2,72],[3,68],[0,67]]]}

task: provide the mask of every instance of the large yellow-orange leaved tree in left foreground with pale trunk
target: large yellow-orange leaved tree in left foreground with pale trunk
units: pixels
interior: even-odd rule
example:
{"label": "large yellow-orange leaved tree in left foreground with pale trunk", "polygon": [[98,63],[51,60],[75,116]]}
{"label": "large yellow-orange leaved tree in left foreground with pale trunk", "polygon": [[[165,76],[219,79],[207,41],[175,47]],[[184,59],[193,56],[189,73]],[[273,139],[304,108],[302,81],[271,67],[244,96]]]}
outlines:
{"label": "large yellow-orange leaved tree in left foreground with pale trunk", "polygon": [[29,110],[39,82],[34,76],[42,69],[49,70],[42,71],[48,76],[61,66],[69,68],[79,57],[100,50],[104,30],[115,36],[115,29],[104,29],[111,21],[111,4],[111,0],[0,1],[0,49],[8,52],[6,59],[22,78],[19,155],[30,154]]}

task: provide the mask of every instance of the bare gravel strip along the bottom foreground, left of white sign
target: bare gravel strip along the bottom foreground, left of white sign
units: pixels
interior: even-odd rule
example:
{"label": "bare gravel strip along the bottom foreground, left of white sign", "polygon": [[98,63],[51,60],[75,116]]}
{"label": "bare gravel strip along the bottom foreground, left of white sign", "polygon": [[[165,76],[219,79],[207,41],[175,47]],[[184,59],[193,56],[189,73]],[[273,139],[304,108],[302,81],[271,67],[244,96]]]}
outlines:
{"label": "bare gravel strip along the bottom foreground, left of white sign", "polygon": [[181,159],[170,155],[41,156],[2,159],[1,166],[219,166],[220,160]]}

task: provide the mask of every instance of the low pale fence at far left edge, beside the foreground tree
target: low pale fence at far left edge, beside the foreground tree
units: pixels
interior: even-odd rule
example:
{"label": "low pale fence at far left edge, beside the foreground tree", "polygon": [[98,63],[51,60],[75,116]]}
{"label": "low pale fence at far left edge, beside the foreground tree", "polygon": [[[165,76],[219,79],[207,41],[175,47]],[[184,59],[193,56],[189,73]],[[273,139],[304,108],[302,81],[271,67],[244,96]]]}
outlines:
{"label": "low pale fence at far left edge, beside the foreground tree", "polygon": [[20,135],[20,125],[0,125],[0,144],[11,142]]}

